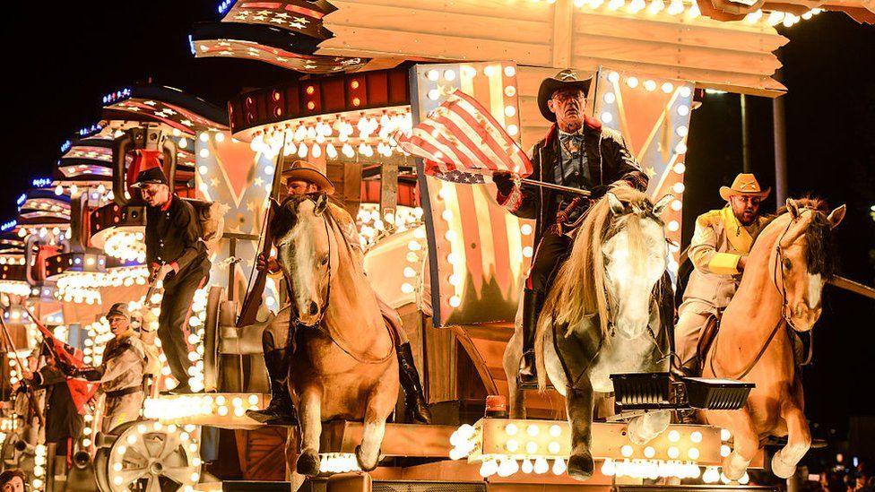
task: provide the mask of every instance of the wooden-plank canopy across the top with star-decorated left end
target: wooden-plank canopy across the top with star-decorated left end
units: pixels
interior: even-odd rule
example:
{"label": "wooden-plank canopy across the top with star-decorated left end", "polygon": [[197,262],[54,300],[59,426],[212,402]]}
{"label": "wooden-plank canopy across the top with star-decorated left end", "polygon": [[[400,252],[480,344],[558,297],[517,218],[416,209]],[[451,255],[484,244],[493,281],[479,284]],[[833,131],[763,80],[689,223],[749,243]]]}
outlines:
{"label": "wooden-plank canopy across the top with star-decorated left end", "polygon": [[[875,4],[868,0],[333,4],[226,0],[220,8],[221,28],[216,29],[229,34],[195,31],[192,49],[195,56],[259,59],[305,73],[351,71],[362,65],[379,69],[405,60],[507,60],[592,72],[604,65],[642,76],[697,82],[703,88],[778,96],[786,89],[771,78],[781,67],[773,53],[788,39],[775,25],[792,26],[823,10],[875,22]],[[302,5],[311,5],[311,10],[301,11]],[[280,17],[296,11],[296,18],[305,22],[290,23]],[[230,28],[230,23],[238,27]],[[294,42],[288,37],[275,42],[281,31],[294,34]]]}

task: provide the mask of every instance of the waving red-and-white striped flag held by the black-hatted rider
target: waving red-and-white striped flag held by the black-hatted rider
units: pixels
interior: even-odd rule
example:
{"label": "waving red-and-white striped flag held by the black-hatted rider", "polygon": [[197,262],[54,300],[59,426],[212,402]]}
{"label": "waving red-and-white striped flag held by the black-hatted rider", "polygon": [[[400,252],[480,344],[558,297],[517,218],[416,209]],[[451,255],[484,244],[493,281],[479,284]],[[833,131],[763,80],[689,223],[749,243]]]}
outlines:
{"label": "waving red-and-white striped flag held by the black-hatted rider", "polygon": [[496,171],[532,174],[525,152],[477,99],[463,91],[450,94],[410,136],[396,140],[404,151],[425,160],[426,174],[447,181],[483,183],[483,177]]}

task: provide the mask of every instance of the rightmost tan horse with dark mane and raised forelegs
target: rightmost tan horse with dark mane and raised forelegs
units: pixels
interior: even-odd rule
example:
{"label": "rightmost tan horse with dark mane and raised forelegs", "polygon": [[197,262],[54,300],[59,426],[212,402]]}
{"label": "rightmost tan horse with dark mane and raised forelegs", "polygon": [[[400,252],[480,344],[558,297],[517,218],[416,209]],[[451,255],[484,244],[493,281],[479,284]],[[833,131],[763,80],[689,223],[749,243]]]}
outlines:
{"label": "rightmost tan horse with dark mane and raised forelegs", "polygon": [[709,424],[734,436],[734,450],[723,461],[728,479],[741,478],[768,436],[788,437],[772,458],[772,471],[784,479],[811,445],[791,330],[814,326],[832,273],[831,231],[845,217],[845,205],[828,215],[821,206],[787,200],[786,210],[759,234],[705,359],[706,377],[756,384],[743,409],[705,411]]}

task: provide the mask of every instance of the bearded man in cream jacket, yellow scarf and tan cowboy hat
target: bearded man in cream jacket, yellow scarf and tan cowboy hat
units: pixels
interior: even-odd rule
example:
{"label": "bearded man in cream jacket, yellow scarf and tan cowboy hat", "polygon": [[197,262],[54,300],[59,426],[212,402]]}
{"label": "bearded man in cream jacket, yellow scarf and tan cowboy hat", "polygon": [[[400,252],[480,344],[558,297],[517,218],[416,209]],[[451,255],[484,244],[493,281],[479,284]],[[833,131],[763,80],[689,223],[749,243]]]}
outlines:
{"label": "bearded man in cream jacket, yellow scarf and tan cowboy hat", "polygon": [[762,190],[752,174],[740,174],[731,187],[720,187],[726,206],[696,219],[689,243],[694,270],[674,329],[675,351],[687,375],[698,375],[696,349],[708,317],[728,306],[738,289],[750,246],[767,223],[759,214],[759,204],[770,191]]}

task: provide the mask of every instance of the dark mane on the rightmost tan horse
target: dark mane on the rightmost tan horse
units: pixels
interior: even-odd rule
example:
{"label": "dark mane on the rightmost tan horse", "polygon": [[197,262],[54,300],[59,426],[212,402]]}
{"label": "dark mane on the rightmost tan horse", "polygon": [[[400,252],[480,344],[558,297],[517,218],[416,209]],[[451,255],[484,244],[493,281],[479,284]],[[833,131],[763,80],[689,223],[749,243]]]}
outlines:
{"label": "dark mane on the rightmost tan horse", "polygon": [[[837,252],[834,241],[832,225],[827,220],[829,213],[829,204],[816,196],[803,196],[794,198],[793,202],[799,209],[809,209],[815,211],[814,218],[805,229],[805,263],[808,265],[808,270],[811,273],[821,275],[825,279],[831,278],[837,270]],[[781,218],[789,213],[786,205],[775,212],[775,215],[770,217],[766,226],[773,221]],[[764,228],[765,229],[765,226]],[[758,236],[763,237],[763,234]],[[756,242],[755,242],[756,244]]]}

